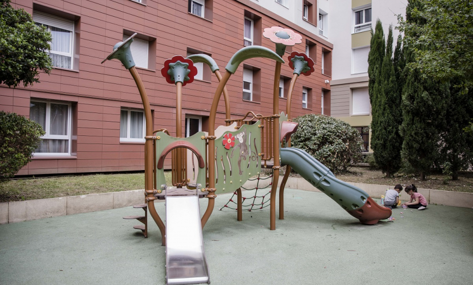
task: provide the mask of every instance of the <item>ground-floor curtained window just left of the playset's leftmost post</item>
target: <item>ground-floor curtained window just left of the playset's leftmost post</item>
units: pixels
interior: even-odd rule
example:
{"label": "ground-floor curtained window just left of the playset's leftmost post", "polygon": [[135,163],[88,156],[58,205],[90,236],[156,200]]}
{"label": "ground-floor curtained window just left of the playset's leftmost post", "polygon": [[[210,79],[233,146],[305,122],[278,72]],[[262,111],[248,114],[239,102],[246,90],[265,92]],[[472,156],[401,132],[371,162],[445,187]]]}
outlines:
{"label": "ground-floor curtained window just left of the playset's leftmost post", "polygon": [[122,109],[120,111],[120,141],[144,143],[144,112]]}

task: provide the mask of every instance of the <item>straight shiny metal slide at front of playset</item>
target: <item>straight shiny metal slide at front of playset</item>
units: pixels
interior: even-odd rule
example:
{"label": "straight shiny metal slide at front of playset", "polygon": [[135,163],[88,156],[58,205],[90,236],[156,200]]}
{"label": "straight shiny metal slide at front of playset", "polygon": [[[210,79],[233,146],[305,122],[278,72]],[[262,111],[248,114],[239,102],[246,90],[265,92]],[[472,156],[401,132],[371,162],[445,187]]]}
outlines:
{"label": "straight shiny metal slide at front of playset", "polygon": [[166,196],[166,284],[210,283],[198,195]]}

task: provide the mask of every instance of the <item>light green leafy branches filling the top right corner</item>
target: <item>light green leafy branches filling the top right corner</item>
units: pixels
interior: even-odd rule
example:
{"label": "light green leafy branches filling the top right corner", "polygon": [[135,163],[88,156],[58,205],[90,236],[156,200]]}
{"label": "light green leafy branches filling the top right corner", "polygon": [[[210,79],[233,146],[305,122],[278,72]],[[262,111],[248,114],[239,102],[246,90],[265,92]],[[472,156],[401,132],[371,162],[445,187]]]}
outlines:
{"label": "light green leafy branches filling the top right corner", "polygon": [[[415,3],[412,3],[415,2]],[[409,3],[406,20],[399,15],[405,44],[414,53],[409,68],[423,78],[473,81],[473,2],[471,0],[416,0]],[[416,18],[410,21],[408,17]]]}

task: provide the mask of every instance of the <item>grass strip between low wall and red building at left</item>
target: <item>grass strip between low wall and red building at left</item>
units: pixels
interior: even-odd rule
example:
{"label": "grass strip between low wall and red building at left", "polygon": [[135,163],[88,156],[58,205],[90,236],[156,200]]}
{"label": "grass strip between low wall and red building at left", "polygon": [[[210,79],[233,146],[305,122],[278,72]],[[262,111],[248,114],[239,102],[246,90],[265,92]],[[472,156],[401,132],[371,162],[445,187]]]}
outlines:
{"label": "grass strip between low wall and red building at left", "polygon": [[[171,173],[166,172],[170,184]],[[0,184],[0,202],[144,189],[144,173],[15,179]]]}

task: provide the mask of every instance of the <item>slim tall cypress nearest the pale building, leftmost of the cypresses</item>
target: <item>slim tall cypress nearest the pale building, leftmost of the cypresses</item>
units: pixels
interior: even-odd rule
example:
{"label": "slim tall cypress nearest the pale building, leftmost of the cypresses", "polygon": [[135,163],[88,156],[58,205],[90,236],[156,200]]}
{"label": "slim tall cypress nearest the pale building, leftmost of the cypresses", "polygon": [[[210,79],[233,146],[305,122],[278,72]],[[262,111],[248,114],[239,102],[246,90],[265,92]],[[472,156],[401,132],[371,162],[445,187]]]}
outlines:
{"label": "slim tall cypress nearest the pale building, leftmost of the cypresses", "polygon": [[[401,168],[402,137],[399,134],[402,122],[401,90],[398,88],[394,71],[392,46],[392,26],[389,26],[385,44],[383,26],[378,19],[375,32],[372,32],[368,55],[369,99],[372,110],[371,149],[374,150],[376,164],[386,177],[390,177]],[[400,61],[400,51],[396,51],[396,60]]]}

